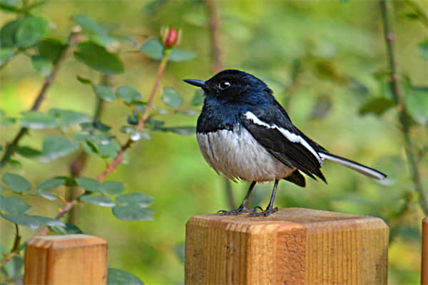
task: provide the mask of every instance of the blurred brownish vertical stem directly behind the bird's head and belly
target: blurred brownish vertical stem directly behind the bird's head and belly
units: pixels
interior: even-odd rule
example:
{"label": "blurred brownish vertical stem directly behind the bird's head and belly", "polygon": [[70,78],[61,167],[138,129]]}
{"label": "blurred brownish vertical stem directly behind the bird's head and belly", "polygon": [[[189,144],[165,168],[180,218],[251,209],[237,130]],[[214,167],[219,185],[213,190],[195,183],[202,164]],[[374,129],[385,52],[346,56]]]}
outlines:
{"label": "blurred brownish vertical stem directly behind the bird's head and belly", "polygon": [[[223,52],[220,45],[220,31],[218,27],[220,26],[220,17],[218,16],[218,6],[216,0],[205,0],[205,4],[208,9],[208,14],[210,16],[210,23],[208,29],[210,31],[210,41],[211,41],[211,55],[213,58],[213,72],[218,73],[223,69],[223,63],[221,61]],[[223,181],[225,185],[225,194],[228,199],[228,204],[230,210],[235,209],[235,198],[233,197],[232,185],[228,177],[223,176]]]}

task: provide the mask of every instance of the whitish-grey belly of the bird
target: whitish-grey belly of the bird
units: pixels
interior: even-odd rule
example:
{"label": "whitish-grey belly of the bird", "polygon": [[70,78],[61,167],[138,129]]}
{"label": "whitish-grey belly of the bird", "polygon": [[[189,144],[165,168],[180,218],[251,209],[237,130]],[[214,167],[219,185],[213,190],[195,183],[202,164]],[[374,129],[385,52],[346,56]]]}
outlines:
{"label": "whitish-grey belly of the bird", "polygon": [[208,164],[233,181],[279,180],[294,170],[270,155],[245,128],[198,133],[196,138]]}

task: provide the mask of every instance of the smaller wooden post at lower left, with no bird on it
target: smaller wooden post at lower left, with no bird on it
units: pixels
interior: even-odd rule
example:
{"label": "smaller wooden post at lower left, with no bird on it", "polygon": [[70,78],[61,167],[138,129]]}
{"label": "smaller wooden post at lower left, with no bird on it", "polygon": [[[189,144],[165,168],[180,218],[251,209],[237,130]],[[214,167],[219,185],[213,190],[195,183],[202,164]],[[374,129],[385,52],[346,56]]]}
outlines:
{"label": "smaller wooden post at lower left, with no bird on it", "polygon": [[86,234],[34,237],[26,243],[24,284],[107,284],[104,239]]}

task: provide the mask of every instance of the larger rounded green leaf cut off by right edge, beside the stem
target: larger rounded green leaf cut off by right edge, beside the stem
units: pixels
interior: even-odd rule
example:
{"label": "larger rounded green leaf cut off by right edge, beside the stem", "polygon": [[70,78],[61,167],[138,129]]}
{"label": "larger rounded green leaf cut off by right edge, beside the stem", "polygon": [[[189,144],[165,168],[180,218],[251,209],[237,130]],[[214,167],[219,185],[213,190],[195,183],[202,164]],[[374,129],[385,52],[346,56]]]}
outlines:
{"label": "larger rounded green leaf cut off by right edge, beside the stem", "polygon": [[417,123],[427,125],[428,123],[428,90],[414,89],[404,96],[409,115]]}

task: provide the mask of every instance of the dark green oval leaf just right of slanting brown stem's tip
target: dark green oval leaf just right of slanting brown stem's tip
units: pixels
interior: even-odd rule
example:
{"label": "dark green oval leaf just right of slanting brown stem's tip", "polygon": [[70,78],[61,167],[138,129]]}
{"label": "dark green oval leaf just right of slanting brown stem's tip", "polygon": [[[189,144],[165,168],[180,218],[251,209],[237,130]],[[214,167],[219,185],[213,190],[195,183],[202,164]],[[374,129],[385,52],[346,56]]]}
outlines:
{"label": "dark green oval leaf just right of slanting brown stem's tip", "polygon": [[74,52],[74,56],[78,61],[101,73],[116,74],[124,71],[123,63],[116,54],[92,41],[78,43],[78,51]]}

